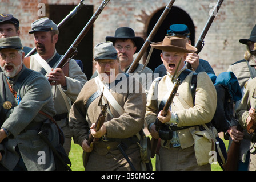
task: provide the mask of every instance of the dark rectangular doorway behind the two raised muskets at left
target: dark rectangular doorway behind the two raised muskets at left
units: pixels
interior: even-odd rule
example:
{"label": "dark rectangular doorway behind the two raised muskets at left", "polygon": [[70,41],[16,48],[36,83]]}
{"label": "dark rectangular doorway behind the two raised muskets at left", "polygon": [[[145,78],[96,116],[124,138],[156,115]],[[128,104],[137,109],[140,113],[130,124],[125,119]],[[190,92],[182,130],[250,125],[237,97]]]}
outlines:
{"label": "dark rectangular doorway behind the two raised muskets at left", "polygon": [[[61,22],[76,5],[47,5],[47,16],[56,24]],[[83,5],[81,10],[73,16],[64,26],[59,30],[59,39],[56,44],[57,52],[64,55],[66,51],[73,44],[74,40],[82,31],[83,27],[89,22],[93,15],[93,5]],[[85,37],[77,46],[77,55],[74,59],[79,59],[83,63],[83,72],[87,78],[92,75],[92,60],[93,60],[93,26],[87,32]]]}

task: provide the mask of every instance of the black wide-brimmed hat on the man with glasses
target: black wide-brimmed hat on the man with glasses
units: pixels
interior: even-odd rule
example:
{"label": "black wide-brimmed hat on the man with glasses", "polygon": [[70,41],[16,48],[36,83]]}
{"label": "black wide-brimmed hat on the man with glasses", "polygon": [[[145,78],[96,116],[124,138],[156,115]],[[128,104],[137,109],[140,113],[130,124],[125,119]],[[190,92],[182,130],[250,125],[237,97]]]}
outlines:
{"label": "black wide-brimmed hat on the man with glasses", "polygon": [[144,39],[139,36],[135,36],[134,30],[129,27],[117,28],[117,30],[115,30],[115,36],[106,36],[105,39],[106,41],[111,41],[113,43],[116,39],[131,39],[135,42],[135,46],[137,47],[135,53],[139,52],[144,44]]}

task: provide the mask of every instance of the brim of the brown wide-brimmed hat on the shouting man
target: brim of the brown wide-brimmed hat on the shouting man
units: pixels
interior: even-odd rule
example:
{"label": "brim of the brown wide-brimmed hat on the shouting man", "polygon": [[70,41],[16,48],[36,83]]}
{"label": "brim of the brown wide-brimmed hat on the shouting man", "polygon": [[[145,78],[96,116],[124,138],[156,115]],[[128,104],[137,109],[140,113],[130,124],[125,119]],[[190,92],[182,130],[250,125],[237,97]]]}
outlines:
{"label": "brim of the brown wide-brimmed hat on the shouting man", "polygon": [[178,46],[173,46],[173,45],[162,45],[163,42],[158,42],[158,43],[152,43],[150,44],[151,47],[155,49],[159,49],[162,51],[166,52],[185,52],[185,53],[191,53],[191,52],[196,52],[197,48],[194,46],[191,46],[190,44],[186,43],[186,49]]}

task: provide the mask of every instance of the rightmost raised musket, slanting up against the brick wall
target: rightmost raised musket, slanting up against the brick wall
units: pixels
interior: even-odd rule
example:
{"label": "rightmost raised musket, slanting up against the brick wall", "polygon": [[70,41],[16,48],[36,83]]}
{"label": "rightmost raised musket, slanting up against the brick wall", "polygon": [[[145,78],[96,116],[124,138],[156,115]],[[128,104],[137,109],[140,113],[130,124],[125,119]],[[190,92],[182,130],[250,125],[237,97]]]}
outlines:
{"label": "rightmost raised musket, slanting up against the brick wall", "polygon": [[[223,2],[223,0],[218,0],[217,4],[214,6],[214,9],[211,12],[210,17],[207,20],[205,27],[203,28],[203,31],[197,40],[197,43],[195,44],[195,48],[197,48],[197,51],[195,53],[198,54],[199,52],[201,52],[203,49],[203,46],[205,46],[205,41],[204,41],[205,36],[206,36],[207,32],[209,31],[215,16],[217,16],[217,13],[219,11],[219,8],[221,7],[222,2]],[[187,65],[187,68],[191,69],[191,65],[189,63],[186,62],[186,65]]]}

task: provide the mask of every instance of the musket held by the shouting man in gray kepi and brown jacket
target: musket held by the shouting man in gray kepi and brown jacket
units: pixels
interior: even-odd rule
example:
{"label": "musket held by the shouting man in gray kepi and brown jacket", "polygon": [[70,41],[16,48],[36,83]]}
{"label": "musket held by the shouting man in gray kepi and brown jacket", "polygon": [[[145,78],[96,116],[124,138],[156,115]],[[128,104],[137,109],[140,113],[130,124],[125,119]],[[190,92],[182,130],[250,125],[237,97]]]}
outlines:
{"label": "musket held by the shouting man in gray kepi and brown jacket", "polygon": [[[104,91],[104,89],[103,89],[103,91]],[[101,113],[99,114],[99,117],[98,117],[97,121],[95,122],[95,125],[94,125],[95,131],[99,131],[99,129],[101,129],[102,125],[105,122],[105,114],[106,114],[106,110],[107,110],[107,104],[100,105],[101,100],[102,100],[102,96],[103,96],[103,91],[102,91],[101,97],[99,98],[99,102],[98,102],[98,106],[101,106]],[[89,134],[89,139],[87,140],[87,144],[90,147],[93,147],[93,144],[97,143],[98,140],[99,140],[99,138],[94,138],[93,135],[91,135],[91,133],[90,133]],[[90,152],[83,151],[83,166],[85,168],[86,168],[86,164],[89,160],[90,154],[91,154]]]}

